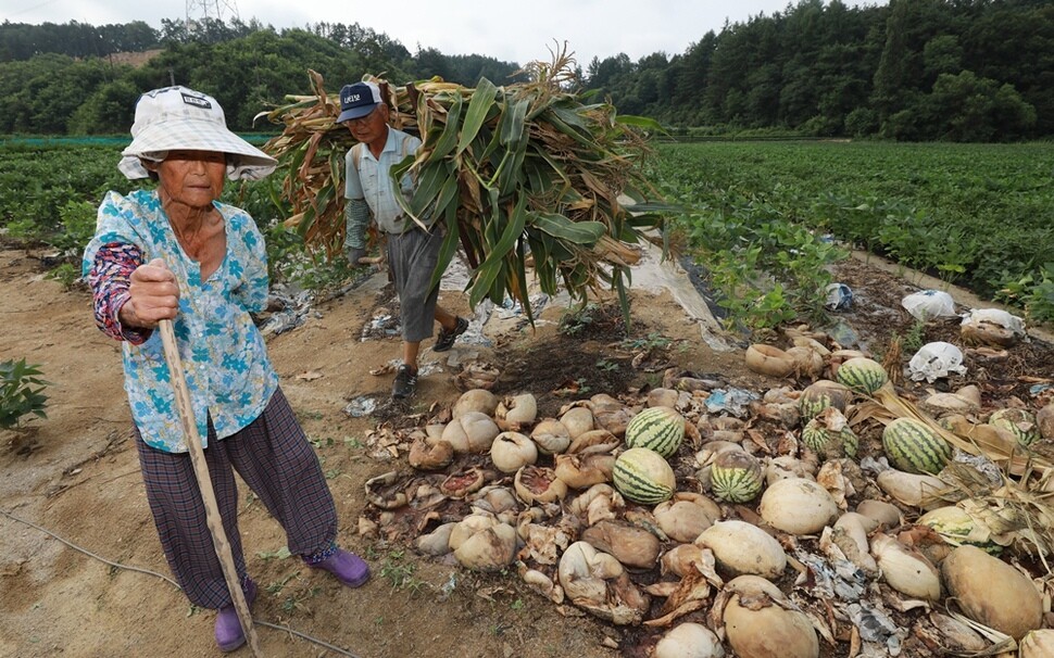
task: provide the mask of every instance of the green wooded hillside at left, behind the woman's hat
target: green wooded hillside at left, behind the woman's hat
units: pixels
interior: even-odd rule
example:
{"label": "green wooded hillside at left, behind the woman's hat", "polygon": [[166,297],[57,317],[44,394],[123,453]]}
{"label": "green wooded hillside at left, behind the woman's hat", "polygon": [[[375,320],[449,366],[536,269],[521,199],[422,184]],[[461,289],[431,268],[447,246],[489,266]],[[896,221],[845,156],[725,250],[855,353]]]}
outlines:
{"label": "green wooded hillside at left, behind the woman's hat", "polygon": [[[100,43],[121,46],[108,52]],[[160,53],[141,66],[113,56],[146,50]],[[275,126],[254,126],[253,118],[285,104],[286,94],[312,93],[309,68],[322,74],[330,93],[366,73],[399,85],[435,75],[474,85],[480,76],[507,80],[518,68],[436,50],[413,55],[387,35],[328,23],[280,31],[256,22],[210,20],[189,25],[166,20],[160,31],[142,23],[102,28],[4,23],[0,53],[0,134],[8,135],[126,134],[139,94],[173,84],[215,96],[233,129],[273,131]]]}

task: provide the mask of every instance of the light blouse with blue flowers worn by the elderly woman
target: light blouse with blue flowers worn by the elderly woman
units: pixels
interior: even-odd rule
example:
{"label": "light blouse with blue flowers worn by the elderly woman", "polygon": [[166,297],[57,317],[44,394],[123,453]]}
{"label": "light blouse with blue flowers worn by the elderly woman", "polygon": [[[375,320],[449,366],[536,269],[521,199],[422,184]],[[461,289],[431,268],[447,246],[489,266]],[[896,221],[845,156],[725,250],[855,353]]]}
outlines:
{"label": "light blouse with blue flowers worn by the elderly woman", "polygon": [[214,205],[224,218],[227,253],[205,281],[176,240],[154,190],[106,193],[81,265],[95,293],[96,324],[123,341],[124,385],[136,427],[148,445],[171,453],[188,448],[161,333],[125,328],[117,319],[140,264],[162,258],[179,282],[173,329],[203,445],[209,420],[219,439],[229,436],[260,416],[278,388],[263,336],[249,315],[267,303],[263,236],[244,211]]}

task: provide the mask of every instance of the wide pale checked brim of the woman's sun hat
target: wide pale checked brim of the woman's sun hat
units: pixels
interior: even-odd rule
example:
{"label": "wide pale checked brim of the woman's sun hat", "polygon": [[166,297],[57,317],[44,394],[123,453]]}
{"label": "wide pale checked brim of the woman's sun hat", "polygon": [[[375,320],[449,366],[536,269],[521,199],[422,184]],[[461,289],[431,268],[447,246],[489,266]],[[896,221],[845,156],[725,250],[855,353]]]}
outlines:
{"label": "wide pale checked brim of the woman's sun hat", "polygon": [[180,119],[140,131],[121,152],[124,157],[118,168],[129,179],[147,178],[149,173],[139,164],[139,156],[158,151],[212,151],[233,155],[233,164],[227,167],[231,180],[258,180],[278,165],[277,160],[214,122]]}

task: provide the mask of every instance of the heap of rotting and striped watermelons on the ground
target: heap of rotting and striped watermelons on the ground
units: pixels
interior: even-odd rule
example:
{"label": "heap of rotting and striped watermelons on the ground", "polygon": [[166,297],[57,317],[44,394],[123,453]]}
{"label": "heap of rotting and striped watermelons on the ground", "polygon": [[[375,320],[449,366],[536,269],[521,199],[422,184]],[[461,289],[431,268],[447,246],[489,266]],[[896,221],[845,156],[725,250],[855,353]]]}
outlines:
{"label": "heap of rotting and striped watermelons on the ground", "polygon": [[796,387],[672,368],[552,417],[479,380],[369,434],[398,466],[360,532],[518,573],[657,658],[1054,656],[1054,390],[918,398],[816,352]]}

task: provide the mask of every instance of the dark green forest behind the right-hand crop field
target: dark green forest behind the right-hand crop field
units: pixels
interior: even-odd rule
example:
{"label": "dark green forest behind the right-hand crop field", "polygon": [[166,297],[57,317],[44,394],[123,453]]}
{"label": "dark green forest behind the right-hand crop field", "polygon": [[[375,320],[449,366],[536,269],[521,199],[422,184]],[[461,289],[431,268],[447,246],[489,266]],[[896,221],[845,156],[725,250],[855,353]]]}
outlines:
{"label": "dark green forest behind the right-hand crop field", "polygon": [[594,59],[591,88],[676,126],[1006,141],[1054,135],[1054,3],[801,0],[682,55]]}

